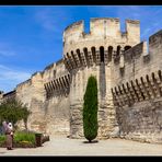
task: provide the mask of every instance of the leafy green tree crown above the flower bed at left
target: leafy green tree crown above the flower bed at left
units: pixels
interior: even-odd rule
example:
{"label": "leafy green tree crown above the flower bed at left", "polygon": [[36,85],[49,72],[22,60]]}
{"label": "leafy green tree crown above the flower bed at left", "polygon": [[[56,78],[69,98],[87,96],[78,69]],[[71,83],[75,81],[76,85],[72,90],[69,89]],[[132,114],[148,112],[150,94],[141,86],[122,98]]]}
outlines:
{"label": "leafy green tree crown above the flower bed at left", "polygon": [[27,109],[23,103],[16,101],[15,99],[7,100],[0,104],[0,121],[3,120],[11,121],[13,126],[19,120],[24,120],[25,127],[27,123],[27,117],[31,112]]}

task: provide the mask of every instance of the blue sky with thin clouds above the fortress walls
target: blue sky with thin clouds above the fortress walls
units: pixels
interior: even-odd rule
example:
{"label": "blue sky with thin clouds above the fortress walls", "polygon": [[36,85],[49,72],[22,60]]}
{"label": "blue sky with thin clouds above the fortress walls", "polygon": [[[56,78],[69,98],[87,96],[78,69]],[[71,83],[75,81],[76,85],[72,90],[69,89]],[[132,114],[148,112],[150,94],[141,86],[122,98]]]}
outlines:
{"label": "blue sky with thin clouds above the fortress walls", "polygon": [[12,91],[46,66],[62,58],[62,32],[90,18],[140,21],[141,40],[162,28],[162,5],[1,5],[0,90]]}

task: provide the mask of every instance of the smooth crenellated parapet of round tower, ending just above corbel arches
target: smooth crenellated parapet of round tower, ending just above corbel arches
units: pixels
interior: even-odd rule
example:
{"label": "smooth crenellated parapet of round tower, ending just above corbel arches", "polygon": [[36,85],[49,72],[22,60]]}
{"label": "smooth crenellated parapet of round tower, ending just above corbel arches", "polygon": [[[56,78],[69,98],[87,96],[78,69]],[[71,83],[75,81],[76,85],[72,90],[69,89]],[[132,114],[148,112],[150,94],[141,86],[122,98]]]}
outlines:
{"label": "smooth crenellated parapet of round tower, ending just above corbel arches", "polygon": [[[84,21],[69,25],[63,32],[63,47],[67,51],[69,46],[82,42],[124,42],[131,46],[140,42],[140,23],[136,20],[125,21],[125,33],[120,31],[119,19],[100,18],[90,20],[90,33],[84,32]],[[103,42],[102,40],[102,42]],[[80,46],[78,46],[80,48]]]}

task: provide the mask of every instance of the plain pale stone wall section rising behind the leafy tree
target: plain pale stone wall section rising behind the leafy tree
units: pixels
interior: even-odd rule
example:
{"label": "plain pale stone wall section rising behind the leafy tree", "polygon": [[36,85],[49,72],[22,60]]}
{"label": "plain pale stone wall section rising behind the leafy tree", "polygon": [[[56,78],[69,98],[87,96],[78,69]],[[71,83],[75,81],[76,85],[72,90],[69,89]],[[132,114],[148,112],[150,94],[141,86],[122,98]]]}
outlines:
{"label": "plain pale stone wall section rising behind the leafy tree", "polygon": [[16,99],[32,112],[27,120],[31,130],[45,132],[45,88],[42,72],[35,72],[31,79],[16,86]]}

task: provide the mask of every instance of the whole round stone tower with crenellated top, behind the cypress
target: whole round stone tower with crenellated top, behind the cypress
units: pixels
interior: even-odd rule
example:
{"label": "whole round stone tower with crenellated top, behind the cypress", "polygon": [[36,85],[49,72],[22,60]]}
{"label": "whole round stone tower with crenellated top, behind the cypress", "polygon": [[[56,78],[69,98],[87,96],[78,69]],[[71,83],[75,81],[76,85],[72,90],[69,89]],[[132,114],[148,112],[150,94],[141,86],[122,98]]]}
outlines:
{"label": "whole round stone tower with crenellated top, behind the cypress", "polygon": [[63,62],[71,76],[70,136],[83,137],[82,108],[88,79],[94,76],[99,89],[99,138],[115,136],[117,130],[112,88],[112,67],[123,51],[140,42],[139,21],[126,20],[126,32],[120,31],[119,19],[91,19],[90,33],[84,22],[69,25],[63,32]]}

